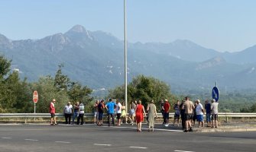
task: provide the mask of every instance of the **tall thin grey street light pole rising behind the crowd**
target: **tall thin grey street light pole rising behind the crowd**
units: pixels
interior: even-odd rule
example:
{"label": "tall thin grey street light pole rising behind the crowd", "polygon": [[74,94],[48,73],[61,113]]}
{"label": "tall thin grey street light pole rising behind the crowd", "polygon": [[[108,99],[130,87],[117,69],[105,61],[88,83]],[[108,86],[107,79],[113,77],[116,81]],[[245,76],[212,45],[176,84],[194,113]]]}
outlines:
{"label": "tall thin grey street light pole rising behind the crowd", "polygon": [[128,112],[127,103],[127,43],[126,43],[126,0],[124,0],[124,24],[125,24],[125,109]]}

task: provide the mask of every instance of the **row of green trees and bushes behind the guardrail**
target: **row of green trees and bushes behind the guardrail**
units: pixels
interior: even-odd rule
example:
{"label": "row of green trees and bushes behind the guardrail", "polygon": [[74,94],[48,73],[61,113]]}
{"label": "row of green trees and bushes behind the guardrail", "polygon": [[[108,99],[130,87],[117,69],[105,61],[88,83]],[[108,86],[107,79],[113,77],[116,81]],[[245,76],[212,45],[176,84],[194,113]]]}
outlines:
{"label": "row of green trees and bushes behind the guardrail", "polygon": [[[36,112],[49,112],[50,101],[57,100],[57,112],[63,112],[63,106],[67,102],[75,103],[81,101],[86,105],[86,112],[92,112],[93,103],[99,97],[92,97],[92,89],[79,82],[71,81],[63,74],[59,65],[54,77],[47,75],[36,82],[28,82],[27,78],[21,80],[18,71],[11,71],[11,60],[0,55],[0,112],[34,112],[32,100],[34,90],[39,94],[36,104]],[[125,100],[125,86],[121,85],[109,90],[107,97]],[[192,99],[209,98],[210,93],[199,93],[200,95],[187,95]],[[128,84],[128,103],[134,100],[141,100],[144,106],[151,100],[155,101],[158,111],[160,100],[167,99],[173,105],[177,100],[183,100],[185,95],[173,95],[170,92],[170,85],[153,77],[138,75]],[[221,94],[219,112],[256,112],[255,94],[250,96],[241,93]],[[247,102],[247,101],[251,102]]]}

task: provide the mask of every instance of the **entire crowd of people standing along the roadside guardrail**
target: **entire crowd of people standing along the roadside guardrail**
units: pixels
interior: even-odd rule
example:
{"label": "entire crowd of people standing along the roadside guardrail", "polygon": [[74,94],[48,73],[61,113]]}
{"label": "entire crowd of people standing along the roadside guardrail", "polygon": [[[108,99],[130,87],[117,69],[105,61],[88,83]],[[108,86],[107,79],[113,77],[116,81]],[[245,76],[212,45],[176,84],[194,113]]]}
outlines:
{"label": "entire crowd of people standing along the roadside guardrail", "polygon": [[[56,117],[55,117],[55,107],[54,103],[55,99],[50,103],[50,125],[57,125]],[[103,125],[103,113],[106,110],[108,116],[108,125],[115,125],[115,116],[117,117],[117,124],[121,125],[122,122],[129,122],[131,125],[136,123],[137,131],[141,131],[141,123],[144,122],[144,117],[147,118],[148,131],[154,131],[154,118],[157,117],[157,108],[154,104],[154,100],[151,100],[150,103],[147,104],[147,108],[141,104],[141,100],[138,102],[135,100],[130,103],[128,111],[128,117],[126,115],[126,106],[125,103],[120,103],[119,100],[109,99],[107,103],[105,100],[96,100],[94,103],[94,123],[96,125]],[[84,105],[83,103],[76,102],[76,104],[72,105],[70,102],[66,104],[63,109],[63,113],[65,116],[66,124],[74,124],[75,119],[77,118],[76,124],[83,125],[83,116],[84,116]],[[105,110],[104,110],[105,109]],[[168,100],[161,100],[160,109],[164,118],[163,125],[169,125],[169,112],[170,112],[170,103]],[[182,120],[183,131],[193,131],[192,126],[195,125],[195,121],[199,122],[199,127],[204,127],[204,114],[206,113],[206,122],[207,127],[215,127],[218,128],[218,103],[215,100],[212,100],[212,104],[209,103],[208,100],[205,101],[205,106],[203,107],[200,100],[196,100],[193,103],[189,97],[185,97],[181,103],[177,100],[177,103],[173,106],[174,109],[174,119],[173,126],[177,122],[177,125],[180,124],[180,118]],[[146,113],[147,112],[147,113]],[[212,117],[211,117],[212,116]],[[81,119],[81,122],[80,122]]]}

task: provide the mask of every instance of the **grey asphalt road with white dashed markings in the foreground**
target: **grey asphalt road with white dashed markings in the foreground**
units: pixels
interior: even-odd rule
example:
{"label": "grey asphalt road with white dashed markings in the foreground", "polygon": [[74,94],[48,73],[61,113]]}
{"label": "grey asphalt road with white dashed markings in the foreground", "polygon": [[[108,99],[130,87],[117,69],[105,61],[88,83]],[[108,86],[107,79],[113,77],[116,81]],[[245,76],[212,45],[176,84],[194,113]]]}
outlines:
{"label": "grey asphalt road with white dashed markings in the foreground", "polygon": [[131,125],[0,125],[0,152],[251,152],[256,151],[255,144],[256,131],[185,133],[180,128],[154,132],[144,128],[142,132],[137,132]]}

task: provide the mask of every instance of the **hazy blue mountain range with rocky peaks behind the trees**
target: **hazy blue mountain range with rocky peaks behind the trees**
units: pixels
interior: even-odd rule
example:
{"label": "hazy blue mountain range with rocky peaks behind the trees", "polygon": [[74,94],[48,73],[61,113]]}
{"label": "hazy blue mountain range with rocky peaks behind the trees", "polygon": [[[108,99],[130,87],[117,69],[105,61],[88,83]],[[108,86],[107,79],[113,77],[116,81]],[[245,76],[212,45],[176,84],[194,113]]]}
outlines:
{"label": "hazy blue mountain range with rocky peaks behind the trees", "polygon": [[[0,31],[1,32],[1,31]],[[9,40],[0,34],[0,53],[12,60],[21,77],[37,81],[63,73],[92,89],[124,83],[124,42],[111,33],[76,25],[66,33],[39,40]],[[172,43],[128,43],[128,81],[138,74],[170,84],[173,92],[256,89],[256,46],[240,52],[218,52],[190,40]]]}

